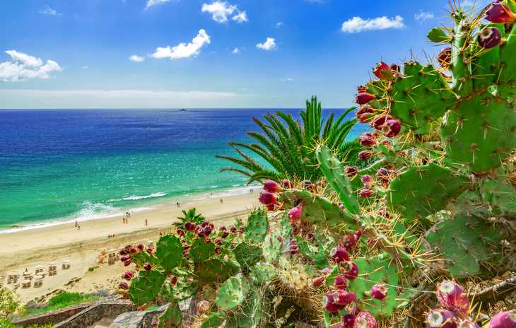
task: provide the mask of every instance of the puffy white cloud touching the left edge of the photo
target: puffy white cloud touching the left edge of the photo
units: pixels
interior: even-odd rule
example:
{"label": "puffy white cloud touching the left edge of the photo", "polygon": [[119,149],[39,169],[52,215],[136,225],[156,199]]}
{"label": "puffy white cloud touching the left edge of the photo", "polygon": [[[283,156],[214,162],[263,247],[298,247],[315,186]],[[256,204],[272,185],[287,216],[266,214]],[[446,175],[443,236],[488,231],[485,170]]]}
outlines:
{"label": "puffy white cloud touching the left edge of the photo", "polygon": [[[62,71],[57,62],[47,60],[47,64],[43,65],[43,61],[39,58],[16,52],[15,50],[6,51],[13,57],[13,61],[0,63],[0,81],[17,82],[28,80],[29,78],[49,78],[51,71]],[[21,62],[22,64],[19,64]]]}

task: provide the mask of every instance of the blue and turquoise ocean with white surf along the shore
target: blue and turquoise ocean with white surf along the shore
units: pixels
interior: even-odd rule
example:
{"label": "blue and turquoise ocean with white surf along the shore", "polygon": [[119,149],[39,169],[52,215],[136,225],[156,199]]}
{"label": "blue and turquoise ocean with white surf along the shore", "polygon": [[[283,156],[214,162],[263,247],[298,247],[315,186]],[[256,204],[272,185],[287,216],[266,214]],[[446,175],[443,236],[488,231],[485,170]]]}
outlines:
{"label": "blue and turquoise ocean with white surf along the shore", "polygon": [[252,117],[274,111],[0,110],[0,233],[245,194],[215,156],[238,156],[228,142],[252,143]]}

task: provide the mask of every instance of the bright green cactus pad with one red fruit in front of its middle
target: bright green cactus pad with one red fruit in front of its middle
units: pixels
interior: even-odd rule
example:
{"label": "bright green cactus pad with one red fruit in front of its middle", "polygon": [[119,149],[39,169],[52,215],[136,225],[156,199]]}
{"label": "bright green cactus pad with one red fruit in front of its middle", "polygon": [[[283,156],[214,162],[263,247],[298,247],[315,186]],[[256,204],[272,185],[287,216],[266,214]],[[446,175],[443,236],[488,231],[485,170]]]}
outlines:
{"label": "bright green cactus pad with one red fruit in front of its middle", "polygon": [[[361,301],[361,306],[375,317],[388,316],[394,312],[399,304],[396,287],[398,275],[401,271],[395,262],[387,254],[380,254],[370,258],[353,259],[358,266],[358,278],[349,281],[349,291],[355,293],[356,299]],[[364,295],[364,291],[370,291],[377,283],[382,283],[389,290],[384,300],[375,300]]]}

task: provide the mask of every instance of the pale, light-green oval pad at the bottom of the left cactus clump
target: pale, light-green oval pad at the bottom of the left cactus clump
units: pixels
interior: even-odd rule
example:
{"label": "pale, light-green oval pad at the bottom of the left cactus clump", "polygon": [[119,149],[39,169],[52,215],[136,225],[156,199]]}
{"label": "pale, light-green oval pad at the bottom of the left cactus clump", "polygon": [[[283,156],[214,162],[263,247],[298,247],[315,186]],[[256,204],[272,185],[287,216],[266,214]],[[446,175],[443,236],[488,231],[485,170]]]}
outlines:
{"label": "pale, light-green oval pad at the bottom of the left cactus clump", "polygon": [[218,288],[218,295],[215,301],[221,310],[235,310],[245,300],[245,295],[247,295],[250,288],[251,286],[247,283],[244,276],[237,274],[224,281],[221,287]]}

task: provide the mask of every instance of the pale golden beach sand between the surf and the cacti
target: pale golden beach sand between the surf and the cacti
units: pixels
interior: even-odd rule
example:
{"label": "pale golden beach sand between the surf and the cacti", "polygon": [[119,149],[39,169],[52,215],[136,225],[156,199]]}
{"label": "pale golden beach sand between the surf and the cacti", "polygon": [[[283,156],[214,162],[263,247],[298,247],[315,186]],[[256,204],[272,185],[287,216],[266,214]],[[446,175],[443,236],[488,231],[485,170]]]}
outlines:
{"label": "pale golden beach sand between the surf and the cacti", "polygon": [[[257,188],[254,194],[224,197],[223,204],[219,198],[184,201],[180,208],[176,204],[166,204],[157,209],[131,213],[127,224],[123,224],[123,216],[119,216],[82,221],[81,230],[77,230],[74,223],[66,223],[16,233],[0,233],[3,245],[0,276],[21,275],[25,269],[35,272],[37,265],[42,265],[47,272],[48,264],[56,263],[57,275],[45,276],[42,286],[18,288],[17,292],[25,302],[59,289],[86,293],[109,289],[116,292],[127,269],[119,261],[107,264],[107,257],[105,264],[96,263],[102,250],[107,248],[118,251],[129,244],[147,245],[148,240],[153,240],[156,245],[160,231],[170,229],[171,224],[177,221],[177,216],[182,216],[181,211],[192,207],[216,227],[233,225],[235,217],[245,219],[249,211],[258,206],[260,191]],[[147,226],[145,220],[148,221]],[[115,238],[107,238],[107,235],[113,234]],[[66,259],[70,261],[71,267],[61,269]],[[90,268],[93,271],[88,271]],[[13,284],[3,281],[4,286],[13,288]]]}

